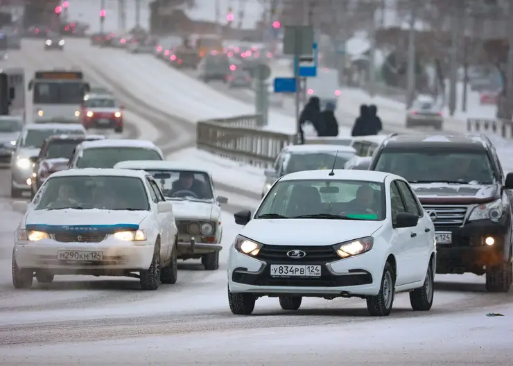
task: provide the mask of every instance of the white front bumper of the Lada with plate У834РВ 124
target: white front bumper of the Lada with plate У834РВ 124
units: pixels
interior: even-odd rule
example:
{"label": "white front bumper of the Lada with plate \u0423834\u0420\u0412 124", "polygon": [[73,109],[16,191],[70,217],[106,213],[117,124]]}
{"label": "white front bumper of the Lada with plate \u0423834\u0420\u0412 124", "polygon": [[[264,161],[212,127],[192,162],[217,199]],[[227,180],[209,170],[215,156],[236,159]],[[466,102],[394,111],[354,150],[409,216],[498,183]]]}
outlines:
{"label": "white front bumper of the Lada with plate \u0423834\u0420\u0412 124", "polygon": [[[372,260],[371,252],[353,258],[329,263],[312,261],[321,265],[320,277],[271,277],[271,264],[299,264],[294,261],[274,263],[261,261],[241,254],[232,246],[229,250],[228,287],[232,293],[252,293],[261,296],[310,296],[310,297],[365,297],[379,293],[384,261]],[[376,251],[377,252],[377,251]]]}

